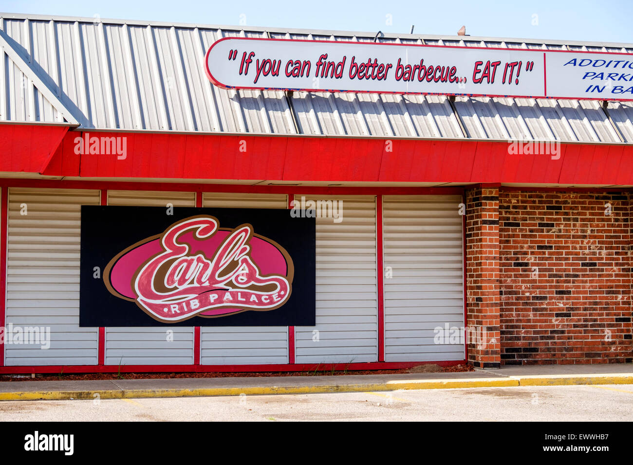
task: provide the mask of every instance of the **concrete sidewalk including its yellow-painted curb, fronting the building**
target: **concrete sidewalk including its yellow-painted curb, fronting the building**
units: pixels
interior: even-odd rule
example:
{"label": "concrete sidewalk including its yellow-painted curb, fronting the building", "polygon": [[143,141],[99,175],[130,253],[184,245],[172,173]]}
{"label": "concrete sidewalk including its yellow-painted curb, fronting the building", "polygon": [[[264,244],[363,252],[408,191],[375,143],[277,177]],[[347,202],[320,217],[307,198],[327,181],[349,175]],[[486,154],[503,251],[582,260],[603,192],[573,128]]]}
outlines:
{"label": "concrete sidewalk including its yellow-painted curb, fronting the building", "polygon": [[130,399],[478,387],[633,384],[633,364],[515,366],[462,373],[0,382],[0,400]]}

